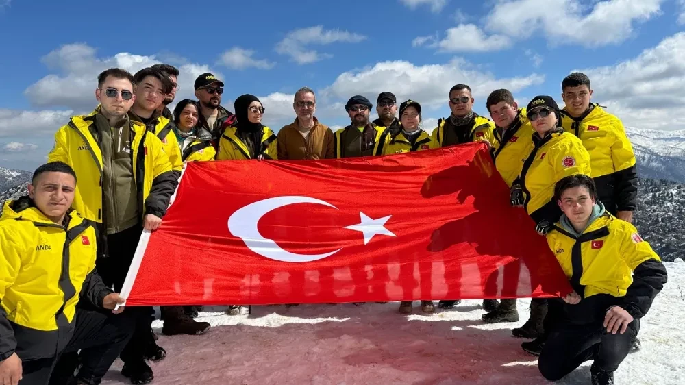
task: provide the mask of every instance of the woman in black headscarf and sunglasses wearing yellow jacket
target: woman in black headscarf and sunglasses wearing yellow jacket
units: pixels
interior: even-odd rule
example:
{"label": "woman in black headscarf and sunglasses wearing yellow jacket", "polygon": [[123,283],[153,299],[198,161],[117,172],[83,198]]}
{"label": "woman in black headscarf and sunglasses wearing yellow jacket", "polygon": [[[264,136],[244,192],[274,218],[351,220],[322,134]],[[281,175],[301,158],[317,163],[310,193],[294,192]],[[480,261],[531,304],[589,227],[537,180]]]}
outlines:
{"label": "woman in black headscarf and sunglasses wearing yellow jacket", "polygon": [[262,102],[245,94],[236,99],[235,108],[238,122],[224,129],[216,160],[277,159],[276,136],[262,125]]}

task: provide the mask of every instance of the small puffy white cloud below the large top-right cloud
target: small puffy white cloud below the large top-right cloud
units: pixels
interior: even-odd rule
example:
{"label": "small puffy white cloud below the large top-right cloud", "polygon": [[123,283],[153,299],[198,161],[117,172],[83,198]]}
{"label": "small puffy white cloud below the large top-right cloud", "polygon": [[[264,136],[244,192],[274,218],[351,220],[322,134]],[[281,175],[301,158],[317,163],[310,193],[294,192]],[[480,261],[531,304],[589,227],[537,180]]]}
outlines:
{"label": "small puffy white cloud below the large top-right cloud", "polygon": [[460,24],[447,29],[447,36],[434,44],[443,52],[484,52],[499,51],[511,44],[508,36],[493,34],[487,36],[475,24]]}

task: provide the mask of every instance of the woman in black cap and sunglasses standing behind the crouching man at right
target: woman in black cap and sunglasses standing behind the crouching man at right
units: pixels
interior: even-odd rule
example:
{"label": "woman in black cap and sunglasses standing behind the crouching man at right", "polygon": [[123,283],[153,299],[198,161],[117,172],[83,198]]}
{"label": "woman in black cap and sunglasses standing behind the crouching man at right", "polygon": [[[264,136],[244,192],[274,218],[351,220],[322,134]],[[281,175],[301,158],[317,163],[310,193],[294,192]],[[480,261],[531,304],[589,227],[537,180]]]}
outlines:
{"label": "woman in black cap and sunglasses standing behind the crouching man at right", "polygon": [[[536,223],[539,234],[547,234],[562,212],[553,199],[554,185],[569,175],[590,175],[590,155],[575,135],[564,132],[557,103],[549,96],[534,97],[525,108],[533,126],[533,149],[526,157],[519,177],[511,188],[512,206],[524,206]],[[519,338],[538,338],[544,334],[546,299],[532,299],[530,319],[512,330]],[[526,351],[534,350],[521,345]]]}

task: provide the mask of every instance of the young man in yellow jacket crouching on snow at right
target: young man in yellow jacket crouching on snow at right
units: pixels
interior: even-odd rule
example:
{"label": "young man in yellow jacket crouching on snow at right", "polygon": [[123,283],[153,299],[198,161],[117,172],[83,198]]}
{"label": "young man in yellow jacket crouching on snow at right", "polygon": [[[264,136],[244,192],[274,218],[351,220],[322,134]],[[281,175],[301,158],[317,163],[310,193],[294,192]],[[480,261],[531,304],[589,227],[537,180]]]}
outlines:
{"label": "young man in yellow jacket crouching on snow at right", "polygon": [[593,360],[592,383],[614,384],[640,319],[667,282],[666,268],[633,225],[605,210],[587,175],[564,177],[554,197],[564,214],[547,243],[573,293],[549,306],[554,321],[538,369],[556,381]]}

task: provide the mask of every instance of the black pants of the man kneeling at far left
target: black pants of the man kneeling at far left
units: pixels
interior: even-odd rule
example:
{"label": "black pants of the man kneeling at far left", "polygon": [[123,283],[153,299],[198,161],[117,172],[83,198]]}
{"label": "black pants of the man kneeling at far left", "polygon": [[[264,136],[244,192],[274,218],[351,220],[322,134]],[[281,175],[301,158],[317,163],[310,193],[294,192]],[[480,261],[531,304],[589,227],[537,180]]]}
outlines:
{"label": "black pants of the man kneeling at far left", "polygon": [[[58,360],[63,354],[73,354],[79,349],[82,352],[84,366],[77,377],[87,384],[99,384],[103,375],[107,373],[112,362],[119,356],[119,352],[128,342],[133,333],[134,317],[123,312],[108,314],[108,310],[91,311],[77,308],[75,314],[74,334],[60,355],[39,360],[23,361],[23,380],[20,385],[46,385],[51,380],[53,370],[58,371]],[[64,384],[71,373],[60,373]],[[53,380],[55,381],[55,380]]]}

